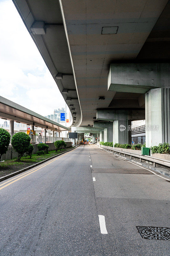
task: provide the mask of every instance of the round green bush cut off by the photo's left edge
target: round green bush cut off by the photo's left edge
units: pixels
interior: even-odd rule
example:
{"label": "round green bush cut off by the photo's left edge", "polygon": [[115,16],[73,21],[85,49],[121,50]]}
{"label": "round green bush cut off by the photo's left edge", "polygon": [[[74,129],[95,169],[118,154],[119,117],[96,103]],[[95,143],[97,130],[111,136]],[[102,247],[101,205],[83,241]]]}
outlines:
{"label": "round green bush cut off by the photo's left edge", "polygon": [[0,128],[0,160],[1,156],[7,152],[10,140],[10,133],[7,132],[5,129]]}

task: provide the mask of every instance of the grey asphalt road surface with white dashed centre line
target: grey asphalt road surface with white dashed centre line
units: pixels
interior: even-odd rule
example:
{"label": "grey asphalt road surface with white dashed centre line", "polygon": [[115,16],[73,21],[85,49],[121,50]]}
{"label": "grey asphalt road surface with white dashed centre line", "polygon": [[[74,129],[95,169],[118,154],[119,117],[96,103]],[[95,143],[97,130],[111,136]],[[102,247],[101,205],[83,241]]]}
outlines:
{"label": "grey asphalt road surface with white dashed centre line", "polygon": [[0,256],[169,256],[136,228],[170,227],[169,199],[166,180],[82,145],[0,182]]}

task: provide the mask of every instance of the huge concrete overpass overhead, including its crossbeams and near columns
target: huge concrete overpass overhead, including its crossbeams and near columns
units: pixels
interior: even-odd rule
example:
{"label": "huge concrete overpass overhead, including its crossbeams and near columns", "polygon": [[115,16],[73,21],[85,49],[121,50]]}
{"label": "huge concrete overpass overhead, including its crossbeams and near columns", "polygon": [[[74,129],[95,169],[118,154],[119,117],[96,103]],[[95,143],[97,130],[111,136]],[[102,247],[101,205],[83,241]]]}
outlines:
{"label": "huge concrete overpass overhead, including its crossbeams and near columns", "polygon": [[159,126],[146,131],[147,146],[170,142],[170,1],[13,2],[71,110],[73,127],[107,121],[96,114],[109,109],[113,141],[129,143],[132,119],[115,119],[115,111],[145,111],[146,125]]}

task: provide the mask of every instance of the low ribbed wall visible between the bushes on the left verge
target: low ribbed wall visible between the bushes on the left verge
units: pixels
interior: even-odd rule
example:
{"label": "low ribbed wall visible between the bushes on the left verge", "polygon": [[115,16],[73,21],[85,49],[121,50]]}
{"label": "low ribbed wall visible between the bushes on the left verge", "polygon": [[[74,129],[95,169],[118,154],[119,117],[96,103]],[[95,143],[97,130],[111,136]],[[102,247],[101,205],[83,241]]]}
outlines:
{"label": "low ribbed wall visible between the bushes on the left verge", "polygon": [[[67,144],[66,148],[70,148],[72,146],[72,143],[70,141],[65,141],[65,143]],[[36,154],[38,151],[38,147],[37,147],[38,144],[32,144],[32,145],[34,147],[32,154]],[[54,146],[54,143],[46,143],[46,145],[49,146],[48,151],[56,149],[56,147]],[[26,156],[26,154],[25,154],[25,156]],[[1,161],[10,160],[15,157],[18,157],[18,153],[14,150],[14,148],[12,146],[9,146],[6,154],[2,155]]]}

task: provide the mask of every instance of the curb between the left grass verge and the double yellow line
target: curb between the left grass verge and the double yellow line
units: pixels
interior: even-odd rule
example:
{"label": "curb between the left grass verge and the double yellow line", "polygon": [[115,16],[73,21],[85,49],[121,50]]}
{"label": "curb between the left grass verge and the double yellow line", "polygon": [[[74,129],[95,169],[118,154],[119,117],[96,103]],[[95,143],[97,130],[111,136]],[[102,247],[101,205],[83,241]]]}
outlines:
{"label": "curb between the left grass verge and the double yellow line", "polygon": [[[80,144],[80,145],[81,145],[81,144]],[[80,145],[75,146],[75,148],[79,147]],[[0,178],[0,182],[3,181],[3,180],[7,180],[7,179],[9,179],[9,178],[11,178],[11,177],[13,177],[13,176],[15,176],[15,175],[18,175],[19,173],[22,173],[22,172],[25,172],[25,171],[27,171],[27,170],[29,170],[29,169],[32,169],[32,168],[34,168],[34,167],[36,167],[36,166],[38,166],[38,165],[40,165],[40,164],[43,164],[43,163],[45,163],[45,162],[47,162],[47,161],[49,161],[49,160],[51,160],[51,159],[53,159],[53,158],[55,158],[55,157],[58,157],[58,156],[60,156],[60,155],[63,155],[63,154],[65,154],[66,152],[69,152],[69,151],[71,151],[71,150],[73,150],[73,149],[75,149],[75,148],[69,149],[69,150],[67,150],[67,151],[65,151],[65,152],[63,152],[63,153],[60,153],[60,154],[56,155],[56,156],[49,157],[49,158],[47,158],[47,159],[45,159],[45,160],[43,160],[43,161],[41,161],[41,162],[39,162],[39,163],[37,163],[37,164],[32,164],[32,165],[30,165],[30,166],[28,166],[28,167],[26,167],[26,168],[24,168],[24,169],[21,169],[21,170],[19,170],[19,171],[17,171],[17,172],[13,172],[13,173],[11,173],[11,174],[5,175],[5,176],[3,176],[3,177]]]}

